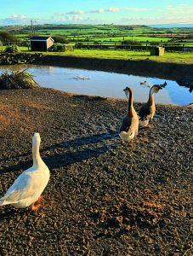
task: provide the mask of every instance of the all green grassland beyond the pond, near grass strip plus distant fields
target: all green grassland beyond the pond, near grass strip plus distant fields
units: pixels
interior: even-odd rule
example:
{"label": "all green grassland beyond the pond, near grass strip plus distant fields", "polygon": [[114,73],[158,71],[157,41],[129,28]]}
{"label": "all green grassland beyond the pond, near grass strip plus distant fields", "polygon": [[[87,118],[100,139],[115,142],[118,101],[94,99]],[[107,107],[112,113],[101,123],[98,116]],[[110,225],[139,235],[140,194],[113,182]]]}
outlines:
{"label": "all green grassland beyond the pond, near grass strip plus distant fields", "polygon": [[[169,43],[176,45],[193,46],[193,28],[154,28],[150,26],[115,26],[115,25],[36,25],[37,36],[62,36],[69,44],[122,44],[129,40],[135,44],[145,45],[149,43]],[[32,32],[31,26],[0,26],[1,31],[13,33],[15,38],[22,42],[29,42]],[[1,40],[1,38],[0,38]],[[0,44],[0,51],[5,46]],[[19,47],[20,51],[28,52],[25,46]],[[163,56],[150,55],[149,51],[139,50],[115,50],[115,49],[75,49],[73,52],[47,52],[47,55],[75,55],[84,57],[152,60],[180,63],[193,63],[192,53],[165,52]]]}

